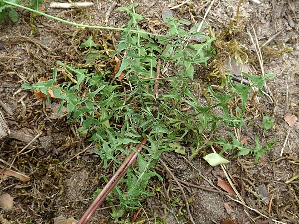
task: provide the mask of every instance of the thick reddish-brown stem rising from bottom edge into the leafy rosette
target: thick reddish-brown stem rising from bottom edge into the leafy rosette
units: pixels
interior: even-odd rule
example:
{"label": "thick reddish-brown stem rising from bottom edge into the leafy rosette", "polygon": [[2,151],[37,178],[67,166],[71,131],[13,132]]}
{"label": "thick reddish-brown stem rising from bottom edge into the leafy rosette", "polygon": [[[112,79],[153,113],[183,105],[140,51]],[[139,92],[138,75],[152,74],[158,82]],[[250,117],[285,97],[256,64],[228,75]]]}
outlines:
{"label": "thick reddish-brown stem rising from bottom edge into the leafy rosette", "polygon": [[[136,149],[138,152],[142,150],[142,146],[147,142],[147,138],[144,138],[141,143],[139,143],[136,146]],[[103,190],[100,192],[100,194],[96,197],[96,199],[91,203],[89,208],[85,211],[81,219],[79,220],[78,224],[86,224],[86,222],[89,220],[89,218],[95,213],[97,208],[104,202],[107,195],[112,191],[114,186],[118,183],[118,181],[122,178],[122,176],[125,174],[129,166],[133,163],[133,161],[136,159],[137,153],[135,151],[132,151],[127,158],[124,160],[122,165],[117,169],[115,174],[112,176],[112,178],[109,180],[109,182],[105,185]]]}

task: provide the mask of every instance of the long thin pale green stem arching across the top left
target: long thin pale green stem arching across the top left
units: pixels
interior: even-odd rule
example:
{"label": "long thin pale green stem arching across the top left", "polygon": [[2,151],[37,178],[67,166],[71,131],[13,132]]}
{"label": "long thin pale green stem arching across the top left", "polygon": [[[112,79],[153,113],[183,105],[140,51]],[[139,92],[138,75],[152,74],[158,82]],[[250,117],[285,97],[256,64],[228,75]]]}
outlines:
{"label": "long thin pale green stem arching across the top left", "polygon": [[[28,8],[28,7],[25,7],[23,5],[15,4],[15,3],[12,3],[12,2],[9,2],[9,1],[3,0],[3,3],[9,4],[9,5],[12,5],[12,6],[15,6],[15,7],[23,8],[25,10],[34,12],[34,13],[39,14],[39,15],[43,15],[43,16],[48,17],[50,19],[54,19],[54,20],[57,20],[57,21],[60,21],[60,22],[66,23],[66,24],[77,26],[77,27],[90,28],[90,29],[108,29],[108,30],[118,30],[118,31],[127,31],[128,30],[128,29],[124,29],[124,28],[109,27],[109,26],[94,26],[94,25],[79,24],[79,23],[70,22],[70,21],[67,21],[67,20],[64,20],[64,19],[61,19],[61,18],[57,18],[55,16],[48,15],[46,13],[43,13],[43,12],[40,12],[40,11],[36,11],[36,10],[34,10],[32,8]],[[150,35],[150,36],[163,36],[163,35],[160,35],[160,34],[149,33],[149,32],[140,31],[140,30],[130,30],[130,32],[132,32],[132,33],[140,33],[140,34],[147,34],[147,35]]]}

